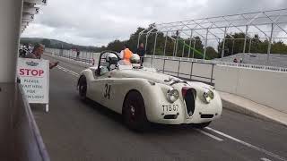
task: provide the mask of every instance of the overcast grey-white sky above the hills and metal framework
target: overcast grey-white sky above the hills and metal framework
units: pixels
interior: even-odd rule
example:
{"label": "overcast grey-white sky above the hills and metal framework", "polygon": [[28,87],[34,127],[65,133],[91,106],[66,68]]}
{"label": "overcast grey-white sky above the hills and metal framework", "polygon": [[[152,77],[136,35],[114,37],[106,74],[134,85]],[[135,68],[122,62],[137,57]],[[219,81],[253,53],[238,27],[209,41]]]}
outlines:
{"label": "overcast grey-white sky above the hills and metal framework", "polygon": [[48,0],[22,37],[101,46],[152,22],[282,8],[287,0]]}

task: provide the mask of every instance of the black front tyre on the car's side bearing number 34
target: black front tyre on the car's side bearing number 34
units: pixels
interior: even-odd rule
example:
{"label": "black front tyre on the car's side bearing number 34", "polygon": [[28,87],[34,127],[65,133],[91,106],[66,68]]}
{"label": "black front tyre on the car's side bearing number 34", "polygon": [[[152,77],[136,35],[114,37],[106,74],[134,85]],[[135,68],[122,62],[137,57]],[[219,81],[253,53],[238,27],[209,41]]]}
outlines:
{"label": "black front tyre on the car's side bearing number 34", "polygon": [[123,106],[123,119],[126,126],[135,131],[146,131],[148,121],[142,95],[137,91],[130,91],[126,95]]}

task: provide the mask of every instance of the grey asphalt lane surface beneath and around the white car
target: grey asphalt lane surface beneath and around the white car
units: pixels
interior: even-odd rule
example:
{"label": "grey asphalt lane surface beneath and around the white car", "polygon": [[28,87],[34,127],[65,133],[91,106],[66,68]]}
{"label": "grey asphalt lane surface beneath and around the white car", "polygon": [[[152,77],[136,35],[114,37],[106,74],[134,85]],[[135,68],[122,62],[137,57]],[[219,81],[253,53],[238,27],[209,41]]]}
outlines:
{"label": "grey asphalt lane surface beneath and around the white car", "polygon": [[32,106],[52,161],[287,160],[285,126],[225,109],[203,130],[152,124],[147,132],[130,131],[121,115],[80,101],[75,85],[82,70],[60,62],[50,71],[50,111]]}

